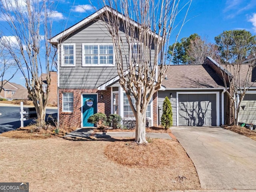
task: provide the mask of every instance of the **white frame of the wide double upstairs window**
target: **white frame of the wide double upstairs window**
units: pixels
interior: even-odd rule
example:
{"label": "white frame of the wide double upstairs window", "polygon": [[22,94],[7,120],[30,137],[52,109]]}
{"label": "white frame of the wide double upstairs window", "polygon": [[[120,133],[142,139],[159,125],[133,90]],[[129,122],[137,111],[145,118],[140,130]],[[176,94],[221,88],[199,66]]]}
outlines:
{"label": "white frame of the wide double upstairs window", "polygon": [[[98,64],[85,64],[84,46],[85,45],[97,45],[98,46]],[[100,61],[100,45],[112,45],[113,46],[113,64],[99,64]],[[114,67],[115,66],[115,51],[113,43],[82,43],[82,67]]]}

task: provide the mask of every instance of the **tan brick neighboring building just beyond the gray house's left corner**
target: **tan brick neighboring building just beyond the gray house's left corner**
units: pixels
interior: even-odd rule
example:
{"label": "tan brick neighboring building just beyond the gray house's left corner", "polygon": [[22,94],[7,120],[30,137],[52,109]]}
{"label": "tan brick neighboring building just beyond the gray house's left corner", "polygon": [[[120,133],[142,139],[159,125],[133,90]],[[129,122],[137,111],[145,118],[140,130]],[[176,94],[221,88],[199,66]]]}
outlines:
{"label": "tan brick neighboring building just beyond the gray house's left corner", "polygon": [[[58,104],[58,85],[57,85],[57,80],[58,80],[58,76],[57,76],[57,72],[52,70],[49,72],[50,73],[50,79],[51,79],[51,83],[50,83],[50,93],[49,93],[49,100],[48,100],[48,104],[52,104],[57,106]],[[43,80],[42,86],[43,86],[43,90],[46,93],[46,89],[47,89],[47,81],[46,81],[46,74],[42,73],[41,76],[39,77],[39,79]]]}

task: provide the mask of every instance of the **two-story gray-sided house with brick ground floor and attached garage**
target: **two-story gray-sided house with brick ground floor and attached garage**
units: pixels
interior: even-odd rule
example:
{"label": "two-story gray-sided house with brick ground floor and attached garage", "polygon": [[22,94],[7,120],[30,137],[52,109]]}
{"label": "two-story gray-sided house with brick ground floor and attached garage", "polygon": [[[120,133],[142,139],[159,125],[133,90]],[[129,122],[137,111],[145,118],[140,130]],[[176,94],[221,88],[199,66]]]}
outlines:
{"label": "two-story gray-sided house with brick ground floor and attached garage", "polygon": [[[50,40],[59,47],[58,120],[64,126],[93,126],[87,119],[97,112],[107,116],[119,114],[124,121],[134,119],[119,84],[112,37],[99,17],[107,9],[99,10]],[[230,107],[218,66],[211,58],[201,65],[169,66],[162,88],[153,95],[146,112],[149,126],[160,124],[166,96],[172,103],[174,126],[228,124]]]}

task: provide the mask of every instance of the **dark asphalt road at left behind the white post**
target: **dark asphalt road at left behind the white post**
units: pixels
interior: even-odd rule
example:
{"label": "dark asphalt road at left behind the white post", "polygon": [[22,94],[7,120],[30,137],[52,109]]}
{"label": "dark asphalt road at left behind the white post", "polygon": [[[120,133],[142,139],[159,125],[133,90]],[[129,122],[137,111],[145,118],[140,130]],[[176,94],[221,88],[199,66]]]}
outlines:
{"label": "dark asphalt road at left behind the white post", "polygon": [[[57,109],[46,109],[46,118],[48,115],[57,117]],[[24,126],[28,126],[35,120],[24,121]],[[16,130],[20,127],[20,107],[2,107],[0,106],[0,134],[10,130]]]}

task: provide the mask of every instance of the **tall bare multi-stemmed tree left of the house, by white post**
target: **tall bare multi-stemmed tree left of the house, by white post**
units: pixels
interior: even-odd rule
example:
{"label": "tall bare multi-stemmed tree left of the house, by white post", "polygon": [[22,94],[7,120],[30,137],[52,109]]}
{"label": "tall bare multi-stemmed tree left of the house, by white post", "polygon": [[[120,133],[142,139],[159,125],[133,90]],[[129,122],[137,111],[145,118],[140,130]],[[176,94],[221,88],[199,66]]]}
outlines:
{"label": "tall bare multi-stemmed tree left of the house, by white post", "polygon": [[[52,6],[50,0],[0,0],[0,10],[8,24],[6,30],[11,33],[11,36],[2,36],[0,42],[25,78],[40,126],[45,124],[51,82],[49,71],[56,55],[56,49],[48,42],[52,34]],[[42,72],[46,72],[46,93],[40,78]]]}

